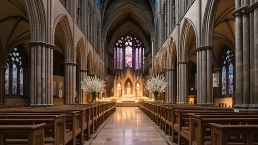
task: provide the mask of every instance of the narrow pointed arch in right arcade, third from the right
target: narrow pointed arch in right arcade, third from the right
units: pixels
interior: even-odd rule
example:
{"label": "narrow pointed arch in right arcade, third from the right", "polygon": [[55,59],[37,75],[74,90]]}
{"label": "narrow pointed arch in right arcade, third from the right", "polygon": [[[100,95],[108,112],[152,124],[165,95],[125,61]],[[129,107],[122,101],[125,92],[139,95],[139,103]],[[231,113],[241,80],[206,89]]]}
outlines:
{"label": "narrow pointed arch in right arcade, third from the right", "polygon": [[174,66],[175,61],[176,61],[176,44],[173,38],[171,38],[170,40],[170,44],[169,44],[169,53],[168,53],[168,58],[167,59],[167,64],[168,64],[168,68],[175,68],[176,66]]}

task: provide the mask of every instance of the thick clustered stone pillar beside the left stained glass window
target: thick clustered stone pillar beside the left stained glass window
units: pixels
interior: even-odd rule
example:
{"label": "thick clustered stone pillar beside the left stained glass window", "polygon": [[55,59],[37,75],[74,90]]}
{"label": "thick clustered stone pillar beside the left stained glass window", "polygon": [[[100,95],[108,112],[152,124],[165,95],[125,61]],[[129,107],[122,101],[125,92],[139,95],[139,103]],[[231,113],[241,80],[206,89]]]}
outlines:
{"label": "thick clustered stone pillar beside the left stained glass window", "polygon": [[31,45],[31,106],[53,105],[54,45],[32,41]]}

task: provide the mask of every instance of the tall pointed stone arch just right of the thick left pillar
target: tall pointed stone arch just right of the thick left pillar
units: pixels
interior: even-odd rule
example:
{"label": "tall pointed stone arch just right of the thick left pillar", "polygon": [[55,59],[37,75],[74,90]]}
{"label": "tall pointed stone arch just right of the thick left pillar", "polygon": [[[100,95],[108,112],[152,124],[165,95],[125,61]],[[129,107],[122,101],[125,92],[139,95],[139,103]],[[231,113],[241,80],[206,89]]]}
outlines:
{"label": "tall pointed stone arch just right of the thick left pillar", "polygon": [[[61,30],[62,30],[62,35],[64,39],[64,56],[65,56],[65,61],[66,62],[76,62],[75,58],[75,51],[73,47],[73,35],[71,31],[71,27],[68,22],[67,14],[61,14],[59,15],[55,22],[54,22],[54,31],[57,27],[57,24],[60,25]],[[55,35],[55,33],[53,33]],[[54,38],[54,36],[53,36]],[[53,40],[54,41],[54,40]]]}

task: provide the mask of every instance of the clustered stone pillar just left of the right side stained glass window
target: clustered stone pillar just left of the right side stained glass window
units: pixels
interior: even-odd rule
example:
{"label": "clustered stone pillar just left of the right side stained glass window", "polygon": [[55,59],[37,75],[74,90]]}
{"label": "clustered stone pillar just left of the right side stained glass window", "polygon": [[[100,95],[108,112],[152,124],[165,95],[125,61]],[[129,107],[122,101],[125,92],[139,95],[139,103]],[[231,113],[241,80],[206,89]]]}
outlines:
{"label": "clustered stone pillar just left of the right side stained glass window", "polygon": [[197,48],[198,105],[214,105],[212,95],[212,48],[211,45]]}

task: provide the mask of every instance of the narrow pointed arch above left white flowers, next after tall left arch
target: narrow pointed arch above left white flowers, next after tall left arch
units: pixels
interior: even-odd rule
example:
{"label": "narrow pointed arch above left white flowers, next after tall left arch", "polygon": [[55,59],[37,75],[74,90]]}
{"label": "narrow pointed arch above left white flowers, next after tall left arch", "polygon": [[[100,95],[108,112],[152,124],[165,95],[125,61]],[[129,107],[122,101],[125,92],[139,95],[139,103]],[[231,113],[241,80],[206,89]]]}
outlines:
{"label": "narrow pointed arch above left white flowers, next after tall left arch", "polygon": [[79,69],[86,69],[86,54],[85,54],[85,45],[83,38],[79,39],[77,46],[76,46],[77,58],[80,62]]}

